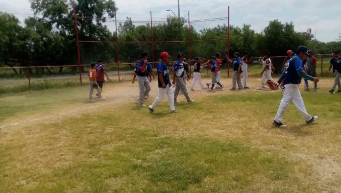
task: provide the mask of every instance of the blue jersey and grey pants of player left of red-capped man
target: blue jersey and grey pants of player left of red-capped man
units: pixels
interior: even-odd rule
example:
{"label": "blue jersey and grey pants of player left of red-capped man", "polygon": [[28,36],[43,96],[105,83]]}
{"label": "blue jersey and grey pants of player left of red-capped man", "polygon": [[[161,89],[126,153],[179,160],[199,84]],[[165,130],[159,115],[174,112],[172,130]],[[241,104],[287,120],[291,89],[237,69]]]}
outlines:
{"label": "blue jersey and grey pants of player left of red-capped man", "polygon": [[149,96],[150,92],[150,83],[148,80],[148,72],[151,71],[151,65],[149,63],[145,63],[144,61],[140,60],[136,64],[136,68],[134,72],[137,75],[137,80],[139,82],[139,102],[140,105],[144,105],[145,103],[145,97]]}

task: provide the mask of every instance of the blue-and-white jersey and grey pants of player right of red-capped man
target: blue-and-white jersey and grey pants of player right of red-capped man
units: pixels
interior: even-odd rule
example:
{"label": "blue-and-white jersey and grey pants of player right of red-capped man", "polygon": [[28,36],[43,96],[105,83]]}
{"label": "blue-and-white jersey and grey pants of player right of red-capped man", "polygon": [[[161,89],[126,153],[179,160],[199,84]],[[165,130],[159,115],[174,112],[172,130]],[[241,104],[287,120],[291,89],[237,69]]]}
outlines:
{"label": "blue-and-white jersey and grey pants of player right of red-capped man", "polygon": [[184,68],[184,63],[182,61],[176,61],[174,63],[174,71],[176,72],[176,77],[175,77],[175,91],[174,91],[174,101],[176,102],[176,98],[179,95],[179,92],[184,94],[184,96],[187,99],[187,102],[191,102],[190,96],[188,96],[187,88],[186,88],[186,71]]}

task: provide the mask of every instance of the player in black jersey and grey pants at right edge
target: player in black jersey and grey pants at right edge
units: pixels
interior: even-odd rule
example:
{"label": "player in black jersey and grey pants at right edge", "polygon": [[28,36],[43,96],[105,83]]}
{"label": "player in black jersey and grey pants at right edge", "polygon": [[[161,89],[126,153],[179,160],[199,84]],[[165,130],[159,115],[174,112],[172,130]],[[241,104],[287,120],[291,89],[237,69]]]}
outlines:
{"label": "player in black jersey and grey pants at right edge", "polygon": [[329,93],[333,94],[336,86],[338,85],[338,93],[341,93],[341,84],[340,84],[340,77],[341,77],[341,56],[339,55],[339,51],[335,50],[332,53],[333,58],[330,60],[330,66],[329,66],[329,71],[333,67],[333,73],[334,73],[334,85],[332,89],[329,91]]}

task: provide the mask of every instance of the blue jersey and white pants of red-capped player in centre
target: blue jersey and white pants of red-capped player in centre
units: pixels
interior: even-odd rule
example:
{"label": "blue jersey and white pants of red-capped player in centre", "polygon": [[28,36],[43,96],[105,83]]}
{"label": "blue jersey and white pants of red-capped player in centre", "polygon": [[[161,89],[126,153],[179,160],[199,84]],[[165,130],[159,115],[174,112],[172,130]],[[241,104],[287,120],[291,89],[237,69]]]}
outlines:
{"label": "blue jersey and white pants of red-capped player in centre", "polygon": [[171,87],[170,77],[169,77],[169,70],[165,63],[159,62],[157,65],[157,72],[162,73],[164,83],[167,85],[166,88],[162,88],[162,82],[160,77],[158,77],[159,82],[159,95],[155,98],[153,104],[149,106],[149,109],[154,110],[154,108],[165,98],[165,95],[168,96],[168,102],[170,103],[170,112],[175,111],[174,106],[174,92]]}

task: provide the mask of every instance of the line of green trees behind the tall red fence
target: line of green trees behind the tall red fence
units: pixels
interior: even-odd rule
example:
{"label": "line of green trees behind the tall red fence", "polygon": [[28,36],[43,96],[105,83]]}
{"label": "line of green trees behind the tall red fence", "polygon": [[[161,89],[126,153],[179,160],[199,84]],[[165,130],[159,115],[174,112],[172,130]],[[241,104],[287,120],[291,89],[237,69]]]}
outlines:
{"label": "line of green trees behind the tall red fence", "polygon": [[[0,12],[0,65],[1,66],[47,66],[77,64],[73,4],[76,15],[97,20],[77,20],[79,39],[84,41],[115,42],[116,32],[109,30],[107,20],[114,19],[118,10],[113,0],[30,0],[34,16],[28,17],[21,25],[18,18],[9,13]],[[223,39],[227,37],[227,26],[217,25],[196,31],[191,27],[192,40]],[[150,41],[150,24],[135,25],[131,18],[118,25],[118,38],[123,42]],[[270,21],[260,33],[243,27],[230,26],[230,53],[247,51],[252,56],[269,51],[271,55],[285,55],[288,49],[299,45],[314,48],[315,54],[330,53],[341,49],[341,43],[323,43],[312,40],[307,33],[294,31],[293,23]],[[185,18],[168,17],[167,23],[153,25],[154,41],[186,41],[188,25]],[[192,58],[208,58],[216,52],[222,55],[227,50],[227,40],[192,42]],[[155,60],[158,54],[167,50],[176,56],[178,52],[189,54],[188,42],[155,43]],[[116,61],[116,45],[113,43],[80,44],[82,64],[97,59],[106,63]],[[120,61],[133,63],[141,52],[150,53],[151,44],[119,44]],[[175,58],[174,58],[175,59]],[[49,69],[46,69],[49,71]],[[75,69],[76,70],[76,69]],[[14,70],[15,73],[21,73]],[[60,68],[59,72],[63,71]]]}

